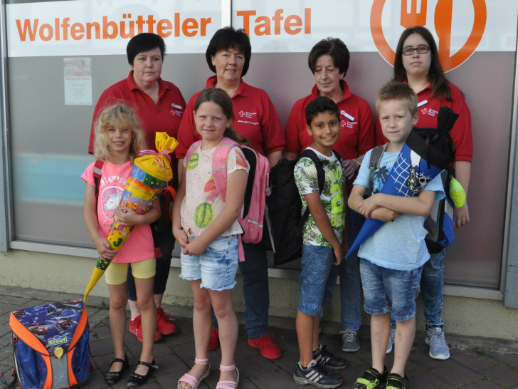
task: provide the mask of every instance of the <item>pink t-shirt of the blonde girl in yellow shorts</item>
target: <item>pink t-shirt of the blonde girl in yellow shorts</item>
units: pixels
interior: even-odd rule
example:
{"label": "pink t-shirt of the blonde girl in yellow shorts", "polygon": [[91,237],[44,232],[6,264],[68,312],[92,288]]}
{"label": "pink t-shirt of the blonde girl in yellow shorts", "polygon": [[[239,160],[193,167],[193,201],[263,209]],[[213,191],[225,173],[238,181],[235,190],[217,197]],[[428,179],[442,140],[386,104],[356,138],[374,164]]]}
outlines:
{"label": "pink t-shirt of the blonde girl in yellow shorts", "polygon": [[[95,162],[88,166],[81,178],[88,185],[95,187],[93,177],[94,165]],[[110,232],[113,217],[117,211],[132,167],[132,162],[126,162],[124,165],[105,162],[102,166],[99,181],[99,197],[97,197],[97,222],[102,237],[107,237],[108,232]],[[154,258],[154,244],[151,227],[149,227],[149,224],[144,224],[134,227],[113,261],[115,263],[129,263],[152,258]]]}

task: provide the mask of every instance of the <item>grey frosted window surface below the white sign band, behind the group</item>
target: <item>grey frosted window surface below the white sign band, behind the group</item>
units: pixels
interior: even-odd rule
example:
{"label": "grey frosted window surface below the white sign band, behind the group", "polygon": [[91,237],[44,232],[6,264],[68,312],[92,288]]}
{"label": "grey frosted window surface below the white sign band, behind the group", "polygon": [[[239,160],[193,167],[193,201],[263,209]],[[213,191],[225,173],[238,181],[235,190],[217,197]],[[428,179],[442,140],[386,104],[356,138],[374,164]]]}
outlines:
{"label": "grey frosted window surface below the white sign band, behind the group", "polygon": [[[79,177],[90,161],[86,149],[93,105],[63,105],[61,57],[10,58],[9,69],[16,239],[92,247],[82,217],[84,183]],[[108,85],[127,76],[129,66],[125,56],[93,56],[92,71],[95,102]],[[371,108],[376,90],[391,73],[378,53],[351,53],[347,81]],[[205,86],[208,76],[201,54],[166,56],[162,77],[176,83],[186,100]],[[457,242],[448,249],[446,281],[498,289],[514,53],[475,53],[448,78],[470,105],[475,159],[468,197],[471,222],[458,230]],[[254,53],[245,81],[268,91],[284,124],[293,103],[310,93],[314,78],[306,53]],[[33,165],[24,167],[16,156],[28,153]],[[47,167],[36,172],[41,165]],[[27,190],[28,183],[36,183],[42,193],[63,188],[55,194],[59,201],[34,199],[36,190]]]}

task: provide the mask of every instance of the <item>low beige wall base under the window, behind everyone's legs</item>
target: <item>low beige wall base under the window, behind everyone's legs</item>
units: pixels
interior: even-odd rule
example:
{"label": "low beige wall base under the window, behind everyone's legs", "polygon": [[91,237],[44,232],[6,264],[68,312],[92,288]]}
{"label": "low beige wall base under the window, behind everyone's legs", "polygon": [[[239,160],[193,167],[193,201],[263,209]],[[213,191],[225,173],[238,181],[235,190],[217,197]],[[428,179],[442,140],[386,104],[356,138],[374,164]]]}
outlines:
{"label": "low beige wall base under the window, behind everyone's legs", "polygon": [[[35,251],[11,250],[0,253],[3,276],[0,284],[5,286],[31,287],[46,291],[83,294],[95,259],[59,254],[43,254]],[[179,279],[179,268],[171,267],[164,294],[164,304],[192,306],[193,299],[189,282]],[[242,279],[233,291],[234,308],[245,311]],[[338,287],[338,286],[337,286]],[[104,278],[100,279],[91,296],[108,297]],[[296,279],[270,278],[270,316],[293,318],[298,303]],[[87,300],[88,306],[88,300]],[[171,312],[174,315],[174,310]],[[324,320],[339,323],[340,306],[335,294],[331,306],[325,310]],[[423,309],[418,299],[417,327],[424,328]],[[518,315],[513,308],[504,308],[502,301],[445,296],[443,320],[448,333],[465,336],[482,336],[518,340]],[[364,313],[363,323],[369,325],[369,316]],[[505,326],[502,326],[505,323]]]}

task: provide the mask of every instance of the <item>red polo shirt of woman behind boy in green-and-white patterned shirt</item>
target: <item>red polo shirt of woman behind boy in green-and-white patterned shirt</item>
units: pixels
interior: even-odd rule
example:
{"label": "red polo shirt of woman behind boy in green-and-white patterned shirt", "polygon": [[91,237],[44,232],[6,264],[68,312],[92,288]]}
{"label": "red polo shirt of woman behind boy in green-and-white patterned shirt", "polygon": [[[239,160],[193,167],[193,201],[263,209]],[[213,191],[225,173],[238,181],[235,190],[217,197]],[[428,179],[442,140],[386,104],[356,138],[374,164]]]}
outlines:
{"label": "red polo shirt of woman behind boy in green-and-white patterned shirt", "polygon": [[[345,81],[340,81],[340,86],[344,90],[344,97],[337,105],[342,130],[333,148],[344,160],[353,160],[374,147],[372,111],[369,103],[351,93]],[[293,105],[285,127],[286,151],[298,155],[313,142],[312,136],[306,130],[306,107],[318,96],[317,85],[314,85],[310,95]]]}

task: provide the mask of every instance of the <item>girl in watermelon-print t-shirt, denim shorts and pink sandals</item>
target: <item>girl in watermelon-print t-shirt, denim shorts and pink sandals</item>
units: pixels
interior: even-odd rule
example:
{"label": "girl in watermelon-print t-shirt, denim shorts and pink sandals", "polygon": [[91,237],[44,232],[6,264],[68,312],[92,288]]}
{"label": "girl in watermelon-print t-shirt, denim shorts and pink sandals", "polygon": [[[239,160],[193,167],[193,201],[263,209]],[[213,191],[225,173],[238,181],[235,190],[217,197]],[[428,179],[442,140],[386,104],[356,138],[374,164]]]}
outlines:
{"label": "girl in watermelon-print t-shirt, denim shorts and pink sandals", "polygon": [[[191,158],[184,159],[173,208],[173,234],[182,247],[182,279],[189,280],[194,295],[194,345],[196,356],[189,373],[179,379],[178,388],[198,388],[208,377],[208,341],[212,331],[212,309],[216,313],[221,342],[218,388],[237,388],[239,372],[234,364],[238,321],[232,306],[232,289],[238,269],[238,222],[248,179],[249,165],[240,147],[232,147],[226,161],[227,181],[221,193],[216,189],[212,159],[217,146],[230,138],[240,144],[248,140],[232,128],[232,100],[224,90],[203,90],[194,104],[196,131],[201,143]],[[192,146],[191,146],[192,147]]]}

